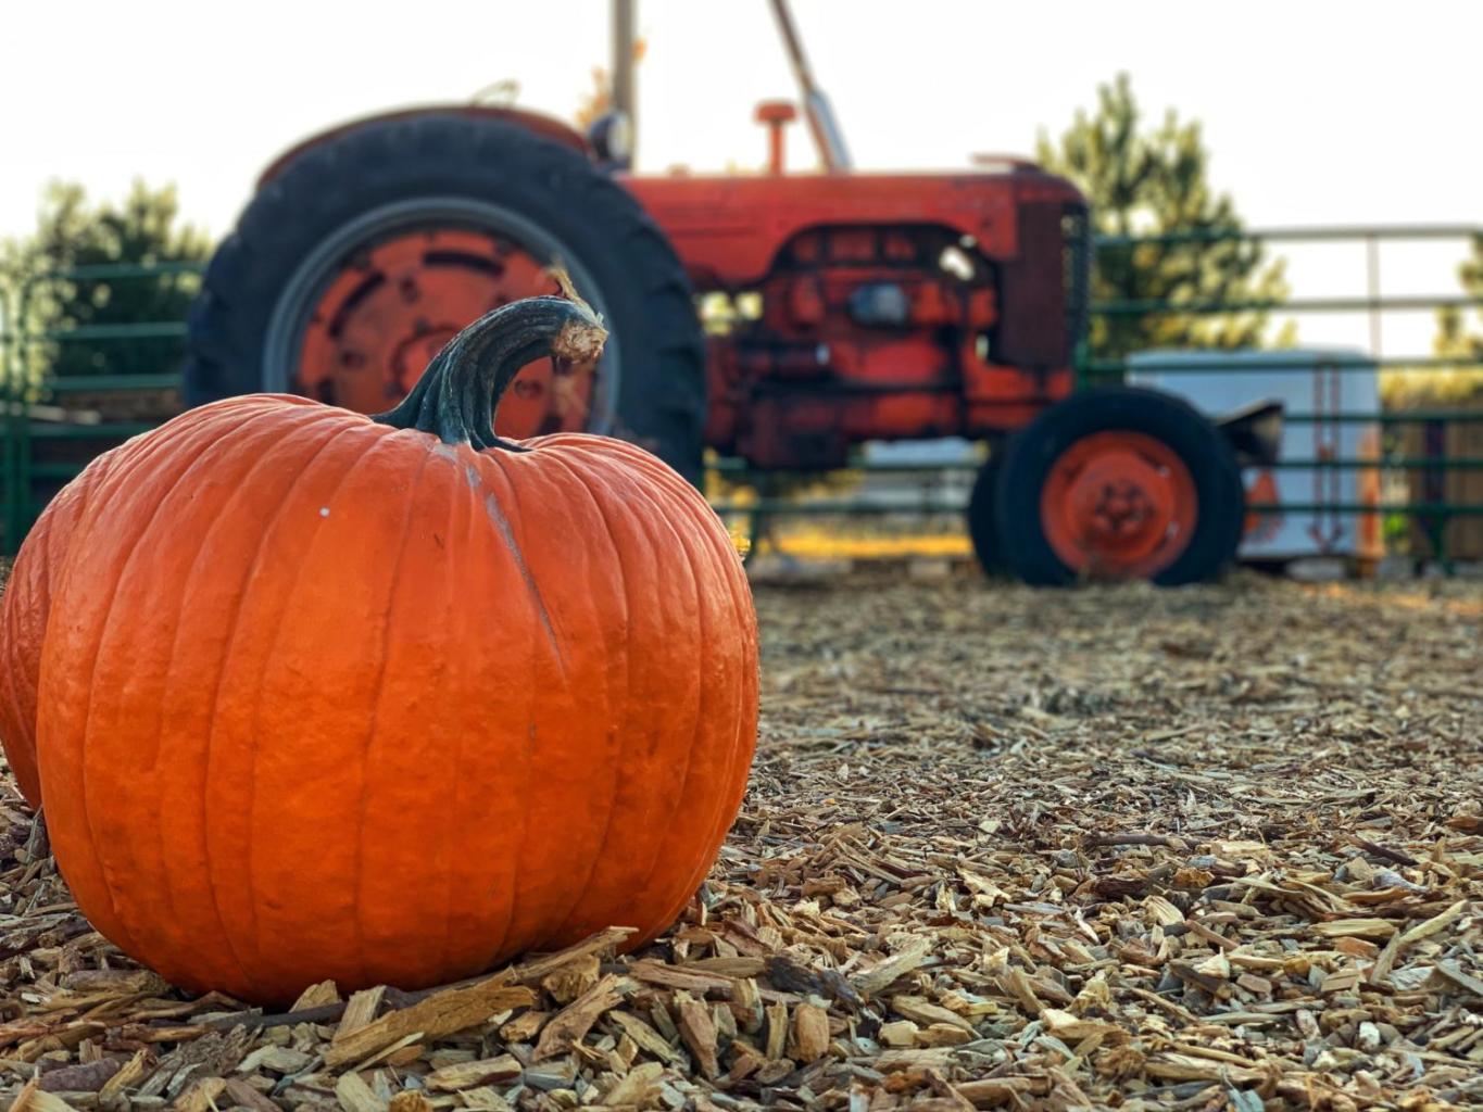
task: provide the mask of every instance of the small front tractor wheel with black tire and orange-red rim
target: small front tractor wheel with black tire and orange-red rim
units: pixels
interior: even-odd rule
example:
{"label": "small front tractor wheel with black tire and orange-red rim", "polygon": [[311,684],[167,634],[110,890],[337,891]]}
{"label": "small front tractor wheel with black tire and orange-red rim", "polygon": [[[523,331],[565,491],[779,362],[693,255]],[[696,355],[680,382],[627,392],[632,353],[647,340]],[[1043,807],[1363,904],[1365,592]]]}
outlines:
{"label": "small front tractor wheel with black tire and orange-red rim", "polygon": [[1219,430],[1183,400],[1134,387],[1043,412],[1010,440],[995,488],[1000,555],[1032,584],[1209,580],[1243,520],[1240,467]]}

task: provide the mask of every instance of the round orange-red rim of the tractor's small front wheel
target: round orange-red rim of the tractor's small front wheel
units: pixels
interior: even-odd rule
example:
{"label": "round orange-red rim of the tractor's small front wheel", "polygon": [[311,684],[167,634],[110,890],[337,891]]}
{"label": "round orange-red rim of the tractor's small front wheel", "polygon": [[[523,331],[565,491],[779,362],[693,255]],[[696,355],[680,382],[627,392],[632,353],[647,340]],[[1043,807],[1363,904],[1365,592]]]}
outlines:
{"label": "round orange-red rim of the tractor's small front wheel", "polygon": [[1050,466],[1040,519],[1072,571],[1149,578],[1189,546],[1198,506],[1189,469],[1169,445],[1106,431],[1077,440]]}

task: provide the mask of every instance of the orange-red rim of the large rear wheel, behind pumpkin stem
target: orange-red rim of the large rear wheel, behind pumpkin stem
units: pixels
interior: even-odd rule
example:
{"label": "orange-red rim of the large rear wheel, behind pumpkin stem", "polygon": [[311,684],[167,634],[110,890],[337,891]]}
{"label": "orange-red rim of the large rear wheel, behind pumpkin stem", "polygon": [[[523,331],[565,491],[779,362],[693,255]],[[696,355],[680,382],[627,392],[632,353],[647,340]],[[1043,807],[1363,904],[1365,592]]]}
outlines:
{"label": "orange-red rim of the large rear wheel, behind pumpkin stem", "polygon": [[[383,412],[406,397],[466,325],[510,301],[556,292],[544,264],[498,234],[426,228],[368,245],[314,304],[294,390],[362,414]],[[500,405],[500,436],[586,428],[592,371],[558,374],[549,359],[531,363]]]}

